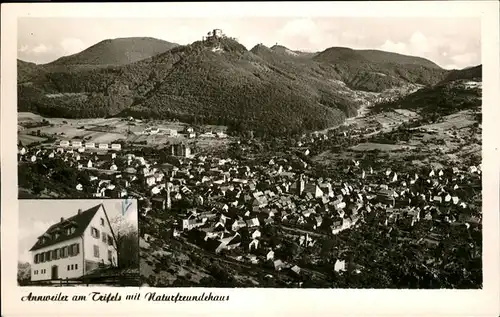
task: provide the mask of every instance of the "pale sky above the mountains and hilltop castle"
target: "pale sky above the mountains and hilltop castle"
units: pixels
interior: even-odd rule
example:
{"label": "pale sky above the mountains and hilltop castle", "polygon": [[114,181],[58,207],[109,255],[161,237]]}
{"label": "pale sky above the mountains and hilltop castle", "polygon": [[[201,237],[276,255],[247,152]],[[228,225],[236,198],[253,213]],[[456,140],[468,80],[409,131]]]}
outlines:
{"label": "pale sky above the mountains and hilltop castle", "polygon": [[20,18],[18,57],[47,63],[119,37],[189,44],[213,28],[248,49],[258,43],[304,51],[344,46],[421,56],[444,68],[481,64],[481,21],[464,17]]}

